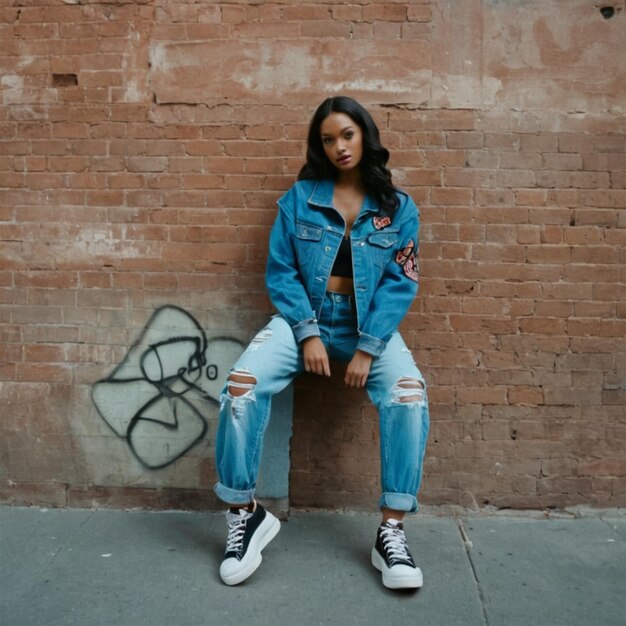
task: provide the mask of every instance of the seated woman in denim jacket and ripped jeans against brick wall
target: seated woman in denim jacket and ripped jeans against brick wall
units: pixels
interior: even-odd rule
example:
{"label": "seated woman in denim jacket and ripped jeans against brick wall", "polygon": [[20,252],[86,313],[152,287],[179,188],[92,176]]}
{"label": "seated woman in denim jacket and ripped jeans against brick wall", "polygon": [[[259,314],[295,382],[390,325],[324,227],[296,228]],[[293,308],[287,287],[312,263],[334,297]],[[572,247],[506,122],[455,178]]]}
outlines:
{"label": "seated woman in denim jacket and ripped jeans against brick wall", "polygon": [[417,293],[418,210],[386,168],[370,114],[347,97],[325,100],[311,121],[306,164],[278,201],[267,288],[279,314],[231,370],[222,396],[217,496],[230,506],[222,580],[261,563],[279,521],[254,500],[271,397],[302,371],[365,387],[380,415],[382,512],[372,563],[389,588],[422,585],[402,519],[417,510],[428,435],[424,379],[397,331]]}

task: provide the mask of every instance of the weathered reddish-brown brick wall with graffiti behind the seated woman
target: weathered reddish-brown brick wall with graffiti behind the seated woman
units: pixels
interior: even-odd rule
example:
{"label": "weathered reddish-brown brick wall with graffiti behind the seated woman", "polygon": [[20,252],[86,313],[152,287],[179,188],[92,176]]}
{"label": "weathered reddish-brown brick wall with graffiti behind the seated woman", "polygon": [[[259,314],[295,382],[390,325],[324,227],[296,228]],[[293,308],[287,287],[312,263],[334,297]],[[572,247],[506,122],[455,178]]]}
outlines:
{"label": "weathered reddish-brown brick wall with graffiti behind the seated woman", "polygon": [[[422,501],[626,503],[623,1],[0,15],[3,500],[215,505],[219,386],[271,311],[275,201],[346,93],[421,208]],[[291,503],[370,508],[375,411],[335,370],[296,385]]]}

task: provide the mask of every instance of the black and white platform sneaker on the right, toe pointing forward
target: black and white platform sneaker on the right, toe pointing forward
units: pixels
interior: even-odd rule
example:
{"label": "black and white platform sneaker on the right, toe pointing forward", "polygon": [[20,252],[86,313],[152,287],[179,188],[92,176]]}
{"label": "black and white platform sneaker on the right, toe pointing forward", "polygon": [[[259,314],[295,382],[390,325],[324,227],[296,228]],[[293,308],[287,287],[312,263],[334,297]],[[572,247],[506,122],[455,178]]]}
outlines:
{"label": "black and white platform sneaker on the right, toe pointing forward", "polygon": [[388,589],[417,589],[424,584],[422,570],[415,565],[398,520],[387,520],[378,527],[372,565],[382,572],[383,585]]}

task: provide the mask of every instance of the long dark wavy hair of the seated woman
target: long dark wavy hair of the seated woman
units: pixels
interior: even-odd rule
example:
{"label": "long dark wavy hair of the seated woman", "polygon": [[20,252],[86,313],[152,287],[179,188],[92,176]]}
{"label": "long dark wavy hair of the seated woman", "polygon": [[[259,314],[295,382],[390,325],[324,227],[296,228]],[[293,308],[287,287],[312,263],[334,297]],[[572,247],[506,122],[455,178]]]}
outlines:
{"label": "long dark wavy hair of the seated woman", "polygon": [[298,180],[334,179],[337,168],[328,160],[322,145],[321,125],[331,113],[345,113],[363,132],[363,157],[359,163],[365,192],[372,196],[382,213],[393,215],[399,205],[396,188],[387,169],[389,150],[380,142],[378,126],[369,112],[347,96],[327,98],[313,114],[307,138],[306,163]]}

